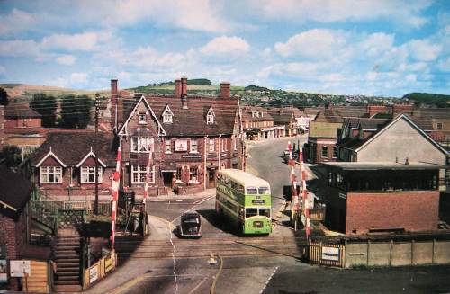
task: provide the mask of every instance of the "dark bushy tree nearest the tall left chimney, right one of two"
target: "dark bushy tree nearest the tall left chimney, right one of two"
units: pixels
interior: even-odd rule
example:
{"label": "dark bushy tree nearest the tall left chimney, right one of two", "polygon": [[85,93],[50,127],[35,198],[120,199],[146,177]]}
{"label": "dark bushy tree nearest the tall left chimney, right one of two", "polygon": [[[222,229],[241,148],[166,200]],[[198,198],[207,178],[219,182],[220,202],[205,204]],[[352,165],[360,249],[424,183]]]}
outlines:
{"label": "dark bushy tree nearest the tall left chimney, right one of two", "polygon": [[91,120],[94,102],[89,96],[73,94],[61,98],[61,127],[85,129]]}

